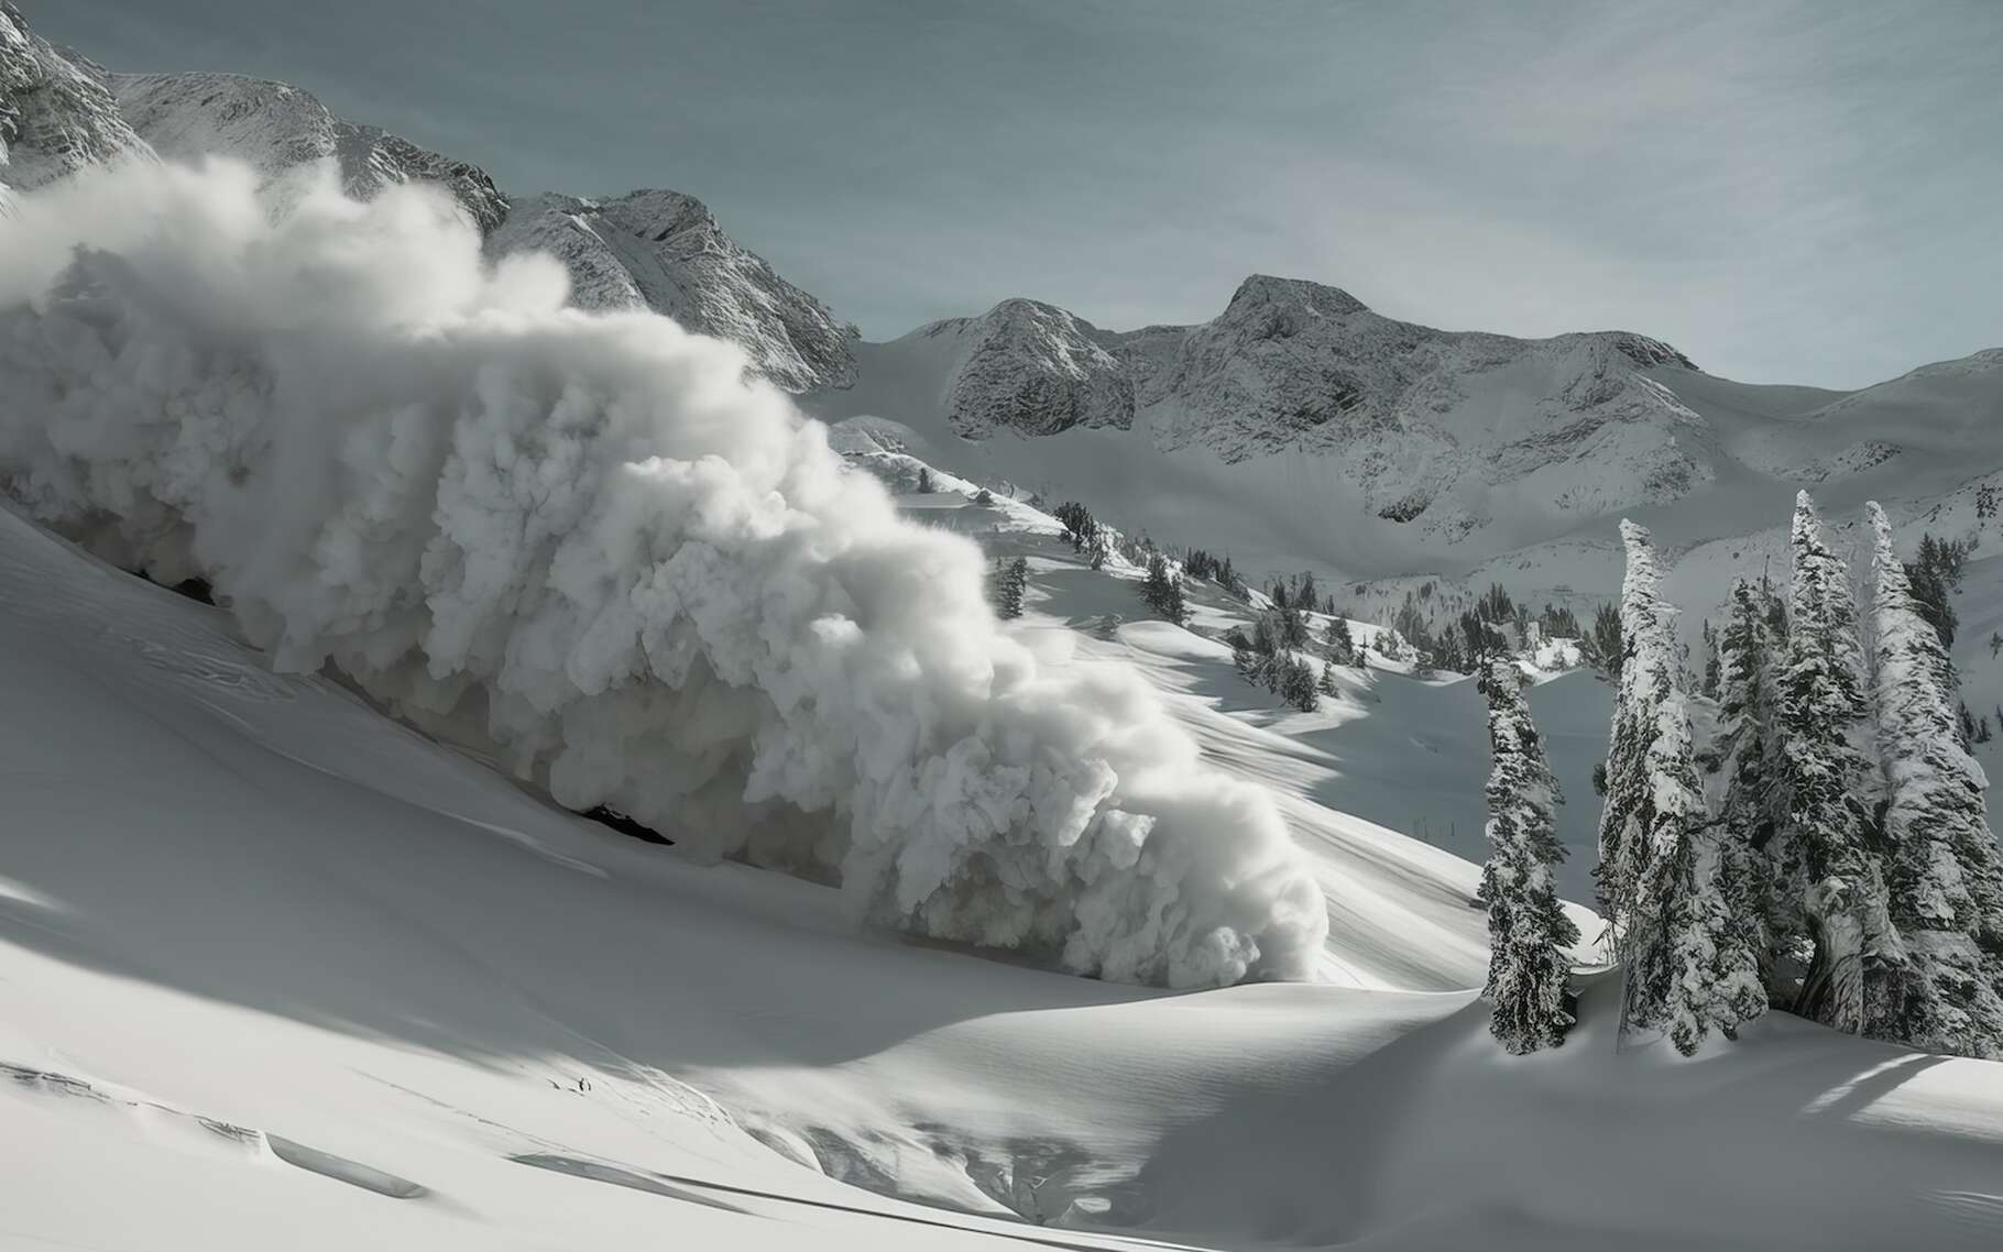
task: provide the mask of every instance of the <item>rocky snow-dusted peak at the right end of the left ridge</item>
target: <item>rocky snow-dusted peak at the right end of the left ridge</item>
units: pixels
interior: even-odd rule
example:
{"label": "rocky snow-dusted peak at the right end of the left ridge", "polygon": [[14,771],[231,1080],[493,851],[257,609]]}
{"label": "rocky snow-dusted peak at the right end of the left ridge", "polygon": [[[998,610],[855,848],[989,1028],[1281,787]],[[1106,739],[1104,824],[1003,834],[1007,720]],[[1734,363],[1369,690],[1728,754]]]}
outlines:
{"label": "rocky snow-dusted peak at the right end of the left ridge", "polygon": [[695,196],[523,196],[509,202],[489,248],[553,252],[569,266],[581,308],[665,312],[743,347],[753,371],[787,391],[847,387],[855,377],[855,327],[741,248]]}

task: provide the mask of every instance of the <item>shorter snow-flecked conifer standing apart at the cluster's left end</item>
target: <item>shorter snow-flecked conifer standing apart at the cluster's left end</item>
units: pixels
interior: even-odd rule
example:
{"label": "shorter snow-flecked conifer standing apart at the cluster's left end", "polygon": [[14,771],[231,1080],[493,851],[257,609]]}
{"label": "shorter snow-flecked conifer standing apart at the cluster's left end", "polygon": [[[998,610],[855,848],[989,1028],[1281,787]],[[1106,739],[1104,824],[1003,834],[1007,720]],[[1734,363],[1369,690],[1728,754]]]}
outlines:
{"label": "shorter snow-flecked conifer standing apart at the cluster's left end", "polygon": [[1558,901],[1556,867],[1564,859],[1550,809],[1562,803],[1544,763],[1544,745],[1522,677],[1506,657],[1482,671],[1488,695],[1488,863],[1480,899],[1488,905],[1488,984],[1494,1006],[1488,1030],[1508,1052],[1556,1048],[1572,1024],[1566,984],[1578,927]]}

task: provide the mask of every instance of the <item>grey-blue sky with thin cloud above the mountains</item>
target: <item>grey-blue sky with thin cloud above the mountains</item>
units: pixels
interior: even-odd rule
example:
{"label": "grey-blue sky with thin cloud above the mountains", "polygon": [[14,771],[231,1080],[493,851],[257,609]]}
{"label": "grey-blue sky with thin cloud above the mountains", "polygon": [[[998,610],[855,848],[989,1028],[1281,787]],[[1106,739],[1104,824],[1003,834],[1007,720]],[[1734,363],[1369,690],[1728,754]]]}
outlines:
{"label": "grey-blue sky with thin cloud above the mountains", "polygon": [[695,194],[869,339],[1270,272],[1761,383],[2003,347],[2003,0],[18,2],[511,192]]}

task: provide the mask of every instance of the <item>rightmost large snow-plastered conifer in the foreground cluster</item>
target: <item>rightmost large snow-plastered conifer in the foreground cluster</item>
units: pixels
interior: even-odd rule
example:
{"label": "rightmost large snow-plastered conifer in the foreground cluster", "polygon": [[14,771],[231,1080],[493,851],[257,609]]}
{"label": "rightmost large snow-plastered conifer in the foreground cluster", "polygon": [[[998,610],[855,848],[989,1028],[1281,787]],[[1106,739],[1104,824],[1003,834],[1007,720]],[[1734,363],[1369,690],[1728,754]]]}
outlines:
{"label": "rightmost large snow-plastered conifer in the foreground cluster", "polygon": [[1913,595],[1885,511],[1867,505],[1875,537],[1873,703],[1885,767],[1885,871],[1891,919],[1907,942],[1921,994],[1891,1038],[1959,1056],[2003,1058],[2003,863],[1989,831],[1989,779],[1955,733],[1953,661]]}

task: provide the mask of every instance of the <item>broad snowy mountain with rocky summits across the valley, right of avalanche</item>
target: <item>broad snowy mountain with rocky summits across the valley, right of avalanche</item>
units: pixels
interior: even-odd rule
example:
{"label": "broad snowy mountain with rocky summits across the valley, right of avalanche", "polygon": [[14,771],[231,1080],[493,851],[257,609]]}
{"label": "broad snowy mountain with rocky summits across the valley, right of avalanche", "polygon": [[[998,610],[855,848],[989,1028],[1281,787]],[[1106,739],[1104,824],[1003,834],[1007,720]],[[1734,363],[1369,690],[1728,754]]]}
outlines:
{"label": "broad snowy mountain with rocky summits across the valley, right of avalanche", "polygon": [[1843,513],[2003,467],[2003,353],[1857,393],[1755,387],[1642,335],[1434,331],[1272,276],[1198,327],[1006,300],[857,357],[813,413],[1252,569],[1468,573],[1612,551],[1626,513],[1689,545],[1773,525],[1805,485]]}

